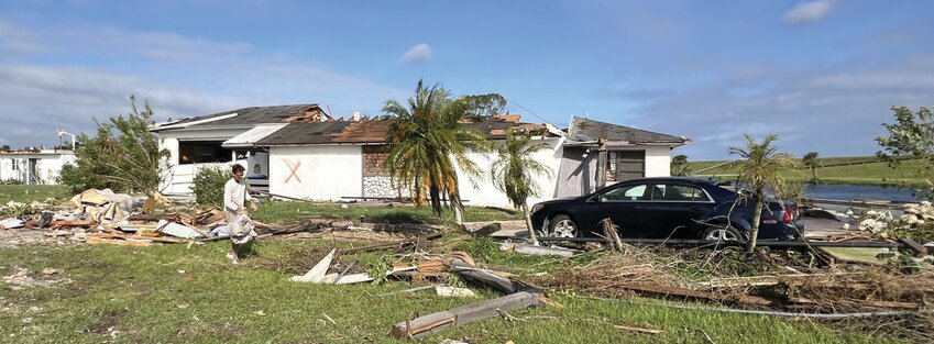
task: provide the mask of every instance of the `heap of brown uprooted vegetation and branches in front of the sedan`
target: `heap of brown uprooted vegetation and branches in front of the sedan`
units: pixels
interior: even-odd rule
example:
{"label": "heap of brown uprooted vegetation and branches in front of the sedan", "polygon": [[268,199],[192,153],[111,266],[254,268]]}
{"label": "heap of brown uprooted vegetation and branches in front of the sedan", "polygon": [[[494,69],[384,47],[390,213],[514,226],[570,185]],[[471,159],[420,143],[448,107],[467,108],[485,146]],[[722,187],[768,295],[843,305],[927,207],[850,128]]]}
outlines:
{"label": "heap of brown uprooted vegetation and branches in front of the sedan", "polygon": [[[603,298],[702,300],[718,308],[823,320],[839,331],[866,330],[916,343],[934,341],[928,310],[934,271],[899,266],[820,264],[795,251],[672,249],[627,246],[534,281]],[[879,315],[879,317],[868,317]]]}

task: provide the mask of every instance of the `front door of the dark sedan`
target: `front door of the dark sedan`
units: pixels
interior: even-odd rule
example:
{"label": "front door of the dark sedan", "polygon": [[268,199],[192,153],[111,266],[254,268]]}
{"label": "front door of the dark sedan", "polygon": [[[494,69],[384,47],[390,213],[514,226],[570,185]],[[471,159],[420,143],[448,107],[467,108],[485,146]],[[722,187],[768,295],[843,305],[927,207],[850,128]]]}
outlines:
{"label": "front door of the dark sedan", "polygon": [[620,185],[600,195],[598,208],[602,213],[598,221],[609,218],[618,226],[620,236],[639,237],[642,228],[641,206],[648,196],[648,184]]}

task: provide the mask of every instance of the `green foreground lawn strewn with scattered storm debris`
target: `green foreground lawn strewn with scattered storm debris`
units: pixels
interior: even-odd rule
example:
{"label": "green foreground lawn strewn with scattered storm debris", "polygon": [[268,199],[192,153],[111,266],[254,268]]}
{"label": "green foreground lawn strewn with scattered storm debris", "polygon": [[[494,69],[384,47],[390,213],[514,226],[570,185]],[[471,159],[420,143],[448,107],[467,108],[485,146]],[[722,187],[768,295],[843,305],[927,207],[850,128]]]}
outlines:
{"label": "green foreground lawn strewn with scattered storm debris", "polygon": [[[480,299],[447,299],[430,291],[382,293],[409,285],[389,281],[322,286],[288,281],[289,264],[323,254],[329,241],[265,241],[243,265],[223,257],[227,243],[150,247],[24,246],[0,249],[0,275],[25,268],[52,287],[0,280],[0,342],[9,343],[395,343],[391,326],[413,312],[428,314]],[[502,253],[488,241],[460,247],[477,262],[530,267],[550,258]],[[304,253],[304,254],[301,254]],[[366,264],[380,253],[341,257]],[[568,263],[570,264],[570,263]],[[542,265],[549,268],[562,264]],[[45,276],[44,268],[62,273]],[[479,290],[483,299],[496,295]],[[661,301],[602,301],[552,291],[563,309],[512,312],[519,321],[488,319],[416,340],[439,343],[880,343],[868,334],[818,323],[759,315],[679,310]],[[326,320],[325,314],[337,324]],[[637,334],[616,324],[663,330]],[[116,331],[116,332],[114,332]],[[703,331],[703,332],[702,332]]]}

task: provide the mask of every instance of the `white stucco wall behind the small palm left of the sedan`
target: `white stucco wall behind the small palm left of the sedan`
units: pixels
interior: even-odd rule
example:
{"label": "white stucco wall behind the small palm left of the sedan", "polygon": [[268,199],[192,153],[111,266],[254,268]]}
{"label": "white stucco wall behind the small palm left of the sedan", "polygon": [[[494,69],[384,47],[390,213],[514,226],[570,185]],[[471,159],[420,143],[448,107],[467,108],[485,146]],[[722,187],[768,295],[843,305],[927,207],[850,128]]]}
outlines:
{"label": "white stucco wall behind the small palm left of the sedan", "polygon": [[[551,170],[551,174],[550,176],[536,176],[535,180],[541,188],[541,197],[529,199],[529,207],[537,202],[549,200],[554,195],[558,168],[561,164],[562,140],[548,138],[534,141],[548,145],[548,148],[536,152],[532,158],[547,166]],[[469,158],[480,167],[482,175],[475,180],[476,188],[474,188],[463,170],[460,167],[458,168],[458,187],[460,188],[461,198],[468,200],[465,206],[512,207],[509,200],[506,198],[506,193],[493,186],[493,180],[490,176],[490,169],[496,160],[496,153],[471,153],[469,154]]]}

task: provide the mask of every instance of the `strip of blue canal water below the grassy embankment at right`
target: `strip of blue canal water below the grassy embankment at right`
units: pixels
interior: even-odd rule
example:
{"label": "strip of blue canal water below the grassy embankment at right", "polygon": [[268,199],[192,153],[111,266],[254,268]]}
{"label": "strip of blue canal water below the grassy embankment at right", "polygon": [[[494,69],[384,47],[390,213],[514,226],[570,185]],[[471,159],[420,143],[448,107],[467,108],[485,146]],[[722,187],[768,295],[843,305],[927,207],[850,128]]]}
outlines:
{"label": "strip of blue canal water below the grassy embankment at right", "polygon": [[807,185],[804,197],[832,200],[879,200],[894,202],[916,202],[917,197],[910,189],[871,185]]}

